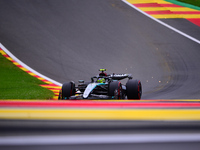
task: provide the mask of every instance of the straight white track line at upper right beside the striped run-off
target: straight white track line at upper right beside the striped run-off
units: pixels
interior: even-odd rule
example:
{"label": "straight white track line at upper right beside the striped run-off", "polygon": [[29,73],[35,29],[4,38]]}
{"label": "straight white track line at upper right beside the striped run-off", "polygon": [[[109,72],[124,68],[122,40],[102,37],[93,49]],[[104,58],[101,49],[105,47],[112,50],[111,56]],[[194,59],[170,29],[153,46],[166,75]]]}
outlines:
{"label": "straight white track line at upper right beside the striped run-off", "polygon": [[144,11],[138,9],[138,8],[135,7],[133,4],[127,2],[126,0],[122,0],[122,1],[123,1],[124,3],[126,3],[127,5],[131,6],[132,8],[134,8],[135,10],[139,11],[140,13],[144,14],[145,16],[147,16],[147,17],[153,19],[154,21],[160,23],[161,25],[163,25],[163,26],[165,26],[165,27],[167,27],[167,28],[169,28],[169,29],[171,29],[171,30],[173,30],[173,31],[175,31],[175,32],[177,32],[177,33],[179,33],[179,34],[185,36],[186,38],[188,38],[188,39],[190,39],[190,40],[192,40],[192,41],[194,41],[194,42],[200,44],[200,41],[199,41],[199,40],[197,40],[197,39],[191,37],[190,35],[185,34],[185,33],[183,33],[182,31],[177,30],[177,29],[175,29],[174,27],[172,27],[172,26],[170,26],[170,25],[168,25],[168,24],[166,24],[166,23],[164,23],[164,22],[162,22],[162,21],[160,21],[160,20],[158,20],[158,19],[156,19],[156,18],[150,16],[149,14],[147,14],[147,13],[145,13]]}

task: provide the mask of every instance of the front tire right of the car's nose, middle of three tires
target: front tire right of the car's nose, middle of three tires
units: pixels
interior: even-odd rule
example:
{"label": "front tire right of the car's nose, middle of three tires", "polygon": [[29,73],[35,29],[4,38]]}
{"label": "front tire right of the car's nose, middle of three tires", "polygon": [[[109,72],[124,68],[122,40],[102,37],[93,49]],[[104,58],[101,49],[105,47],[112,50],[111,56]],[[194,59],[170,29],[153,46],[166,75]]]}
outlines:
{"label": "front tire right of the car's nose, middle of three tires", "polygon": [[119,81],[110,82],[108,87],[108,96],[115,99],[122,98],[122,84]]}

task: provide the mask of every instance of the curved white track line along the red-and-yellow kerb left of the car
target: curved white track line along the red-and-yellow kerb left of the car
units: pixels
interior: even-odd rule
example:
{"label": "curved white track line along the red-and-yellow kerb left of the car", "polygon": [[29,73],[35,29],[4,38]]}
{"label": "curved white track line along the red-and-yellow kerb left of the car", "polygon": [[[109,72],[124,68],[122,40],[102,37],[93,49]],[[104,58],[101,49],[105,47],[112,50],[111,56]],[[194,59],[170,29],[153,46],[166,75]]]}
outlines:
{"label": "curved white track line along the red-and-yellow kerb left of the car", "polygon": [[58,85],[58,86],[62,86],[61,83],[59,83],[59,82],[57,82],[57,81],[55,81],[55,80],[53,80],[53,79],[50,79],[50,78],[48,78],[48,77],[46,77],[46,76],[40,74],[39,72],[35,71],[35,70],[32,69],[31,67],[29,67],[29,66],[27,66],[26,64],[24,64],[24,63],[23,63],[22,61],[20,61],[17,57],[15,57],[7,48],[5,48],[5,47],[3,46],[3,44],[0,43],[0,47],[3,49],[3,51],[4,51],[6,54],[8,54],[13,60],[15,60],[17,63],[19,63],[19,64],[20,64],[21,66],[23,66],[24,68],[28,69],[28,70],[31,71],[32,73],[34,73],[34,74],[36,74],[36,75],[38,75],[38,76],[40,76],[40,77],[42,77],[42,78],[44,78],[44,79],[46,79],[46,80],[48,80],[48,81],[50,81],[50,82],[52,82],[52,83]]}

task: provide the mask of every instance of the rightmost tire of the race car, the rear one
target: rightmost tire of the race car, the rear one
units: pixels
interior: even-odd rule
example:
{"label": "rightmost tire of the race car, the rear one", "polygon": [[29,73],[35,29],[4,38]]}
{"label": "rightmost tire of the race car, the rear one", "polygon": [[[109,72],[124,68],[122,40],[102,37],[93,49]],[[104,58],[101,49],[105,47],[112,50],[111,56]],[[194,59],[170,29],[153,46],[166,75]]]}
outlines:
{"label": "rightmost tire of the race car, the rear one", "polygon": [[140,80],[128,80],[126,83],[126,95],[128,99],[141,99],[142,84]]}

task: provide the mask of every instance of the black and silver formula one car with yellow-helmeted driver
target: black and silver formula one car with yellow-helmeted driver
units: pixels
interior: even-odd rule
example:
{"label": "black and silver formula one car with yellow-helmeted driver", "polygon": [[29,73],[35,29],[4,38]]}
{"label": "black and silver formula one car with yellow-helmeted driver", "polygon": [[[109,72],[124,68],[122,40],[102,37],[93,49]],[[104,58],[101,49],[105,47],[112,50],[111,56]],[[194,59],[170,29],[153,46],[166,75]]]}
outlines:
{"label": "black and silver formula one car with yellow-helmeted driver", "polygon": [[[133,80],[131,74],[105,73],[100,69],[99,75],[90,82],[79,80],[78,87],[73,81],[62,85],[58,99],[141,99],[142,85],[140,80]],[[128,78],[126,85],[120,80]]]}

